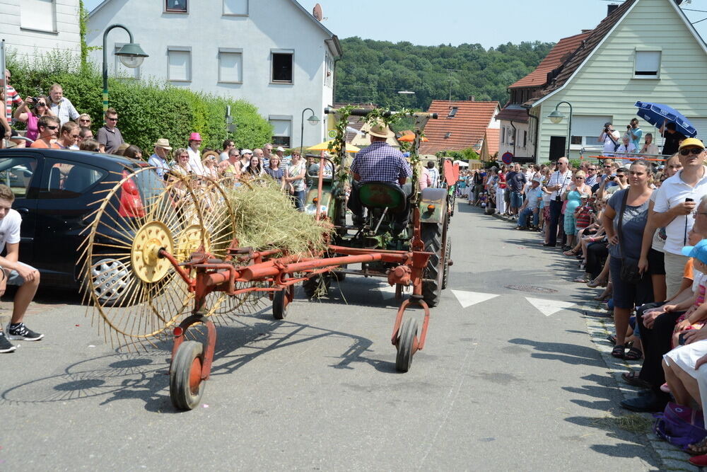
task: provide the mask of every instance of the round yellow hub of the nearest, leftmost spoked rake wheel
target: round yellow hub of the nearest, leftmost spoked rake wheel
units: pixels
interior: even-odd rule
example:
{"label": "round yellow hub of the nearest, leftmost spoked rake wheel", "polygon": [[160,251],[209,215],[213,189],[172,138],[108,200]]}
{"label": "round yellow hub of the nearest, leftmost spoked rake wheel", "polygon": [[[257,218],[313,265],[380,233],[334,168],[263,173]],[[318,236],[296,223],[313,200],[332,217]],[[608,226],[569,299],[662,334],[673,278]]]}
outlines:
{"label": "round yellow hub of the nearest, leftmost spoked rake wheel", "polygon": [[169,260],[159,257],[160,249],[174,250],[172,232],[161,221],[150,221],[137,231],[130,251],[135,275],[143,282],[158,282],[172,269]]}

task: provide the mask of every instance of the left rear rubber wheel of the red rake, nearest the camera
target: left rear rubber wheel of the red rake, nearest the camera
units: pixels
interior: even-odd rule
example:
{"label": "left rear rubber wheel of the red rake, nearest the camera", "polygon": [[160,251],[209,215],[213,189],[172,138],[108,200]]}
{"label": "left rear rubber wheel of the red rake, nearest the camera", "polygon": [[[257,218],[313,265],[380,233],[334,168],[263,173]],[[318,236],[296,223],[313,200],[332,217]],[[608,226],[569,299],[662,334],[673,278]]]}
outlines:
{"label": "left rear rubber wheel of the red rake, nearest the camera", "polygon": [[204,381],[201,380],[204,345],[185,341],[177,349],[170,369],[170,399],[177,410],[193,410],[201,401]]}

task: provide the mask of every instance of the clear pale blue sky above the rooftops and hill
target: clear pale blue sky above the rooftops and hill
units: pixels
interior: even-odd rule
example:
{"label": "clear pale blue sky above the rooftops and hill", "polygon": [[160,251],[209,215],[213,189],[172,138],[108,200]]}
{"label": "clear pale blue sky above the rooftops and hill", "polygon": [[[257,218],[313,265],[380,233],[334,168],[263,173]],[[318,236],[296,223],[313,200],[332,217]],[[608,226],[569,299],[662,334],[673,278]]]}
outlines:
{"label": "clear pale blue sky above the rooftops and hill", "polygon": [[[101,0],[84,0],[93,9]],[[143,0],[146,1],[146,0]],[[156,1],[156,0],[149,0]],[[197,1],[197,0],[192,0]],[[199,0],[218,1],[218,0]],[[264,1],[264,0],[252,0]],[[620,3],[621,0],[617,1]],[[319,0],[323,23],[339,38],[409,41],[416,45],[479,43],[488,48],[506,42],[556,42],[594,28],[606,16],[604,0]],[[316,0],[300,0],[308,11]],[[707,0],[683,8],[707,10]],[[707,13],[686,11],[690,21]],[[703,38],[707,21],[697,23]]]}

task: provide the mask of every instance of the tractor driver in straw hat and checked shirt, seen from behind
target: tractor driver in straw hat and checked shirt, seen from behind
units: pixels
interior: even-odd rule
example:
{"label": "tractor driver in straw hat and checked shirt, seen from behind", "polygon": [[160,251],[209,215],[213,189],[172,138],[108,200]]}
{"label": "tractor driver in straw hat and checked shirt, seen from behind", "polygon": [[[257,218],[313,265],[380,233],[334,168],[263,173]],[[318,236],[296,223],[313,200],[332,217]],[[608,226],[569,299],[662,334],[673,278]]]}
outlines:
{"label": "tractor driver in straw hat and checked shirt, seen from behind", "polygon": [[[351,163],[351,175],[354,185],[349,197],[349,209],[354,213],[354,224],[363,224],[363,206],[358,198],[358,185],[376,181],[404,185],[412,175],[410,164],[402,156],[402,152],[387,144],[386,140],[395,136],[384,122],[378,120],[368,132],[370,146],[359,151]],[[400,231],[407,226],[407,212],[397,218]]]}

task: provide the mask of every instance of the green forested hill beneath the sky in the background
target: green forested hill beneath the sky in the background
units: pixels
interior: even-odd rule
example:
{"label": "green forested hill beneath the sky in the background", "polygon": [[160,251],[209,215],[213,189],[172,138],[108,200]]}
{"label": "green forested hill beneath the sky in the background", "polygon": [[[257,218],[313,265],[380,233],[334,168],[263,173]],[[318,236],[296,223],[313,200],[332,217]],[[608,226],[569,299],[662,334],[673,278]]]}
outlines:
{"label": "green forested hill beneath the sky in the background", "polygon": [[553,46],[509,42],[485,50],[478,44],[416,46],[346,38],[341,40],[344,57],[337,64],[336,101],[426,110],[432,100],[449,98],[451,77],[452,100],[475,96],[503,105],[508,100],[506,88],[535,69]]}

